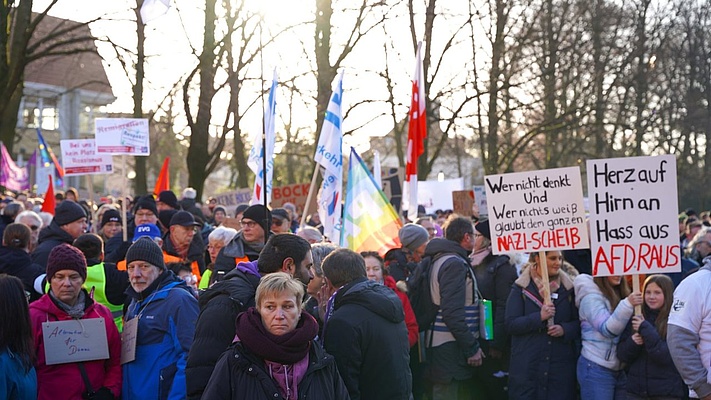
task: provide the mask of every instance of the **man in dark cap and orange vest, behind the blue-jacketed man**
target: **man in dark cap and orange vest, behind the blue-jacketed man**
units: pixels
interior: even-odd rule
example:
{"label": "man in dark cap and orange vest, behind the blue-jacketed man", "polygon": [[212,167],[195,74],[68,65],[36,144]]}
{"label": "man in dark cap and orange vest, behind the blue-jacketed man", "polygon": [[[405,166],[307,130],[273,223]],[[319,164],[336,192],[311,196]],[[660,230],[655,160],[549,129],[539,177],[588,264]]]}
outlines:
{"label": "man in dark cap and orange vest, behind the blue-jacketed man", "polygon": [[170,219],[168,233],[163,237],[163,254],[177,257],[180,262],[189,262],[200,282],[205,272],[205,243],[201,235],[196,235],[200,224],[187,211],[178,211]]}

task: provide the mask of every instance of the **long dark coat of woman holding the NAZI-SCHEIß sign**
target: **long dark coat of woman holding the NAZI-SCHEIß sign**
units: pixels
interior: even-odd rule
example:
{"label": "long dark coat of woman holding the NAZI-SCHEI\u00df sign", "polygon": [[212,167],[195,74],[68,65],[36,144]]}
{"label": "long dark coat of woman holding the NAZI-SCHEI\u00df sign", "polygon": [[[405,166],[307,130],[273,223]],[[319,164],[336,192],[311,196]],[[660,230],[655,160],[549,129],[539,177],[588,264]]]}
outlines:
{"label": "long dark coat of woman holding the NAZI-SCHEI\u00df sign", "polygon": [[547,321],[541,321],[543,297],[530,269],[521,274],[509,294],[505,325],[511,335],[511,399],[576,398],[575,341],[580,337],[580,321],[573,280],[562,270],[559,276],[561,285],[551,298],[555,306],[553,323],[563,328],[561,337],[549,336]]}

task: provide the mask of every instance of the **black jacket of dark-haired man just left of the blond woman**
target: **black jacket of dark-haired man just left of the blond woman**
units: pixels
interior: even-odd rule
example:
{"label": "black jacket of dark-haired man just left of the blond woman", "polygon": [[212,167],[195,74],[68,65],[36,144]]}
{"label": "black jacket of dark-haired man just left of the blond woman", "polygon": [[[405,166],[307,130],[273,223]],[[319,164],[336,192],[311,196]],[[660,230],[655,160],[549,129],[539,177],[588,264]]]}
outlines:
{"label": "black jacket of dark-haired man just left of the blond woman", "polygon": [[234,269],[200,295],[200,315],[185,367],[189,399],[202,396],[220,354],[235,337],[237,315],[254,306],[258,285],[258,276]]}

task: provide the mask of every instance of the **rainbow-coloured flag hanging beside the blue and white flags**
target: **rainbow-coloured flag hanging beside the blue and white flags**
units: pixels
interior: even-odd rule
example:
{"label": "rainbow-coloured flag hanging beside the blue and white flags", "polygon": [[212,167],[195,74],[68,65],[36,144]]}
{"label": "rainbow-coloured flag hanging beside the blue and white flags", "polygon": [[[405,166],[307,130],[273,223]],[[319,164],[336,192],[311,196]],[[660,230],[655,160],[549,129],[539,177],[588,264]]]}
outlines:
{"label": "rainbow-coloured flag hanging beside the blue and white flags", "polygon": [[401,227],[395,209],[351,147],[341,245],[355,252],[377,251],[384,255],[400,247],[397,233]]}

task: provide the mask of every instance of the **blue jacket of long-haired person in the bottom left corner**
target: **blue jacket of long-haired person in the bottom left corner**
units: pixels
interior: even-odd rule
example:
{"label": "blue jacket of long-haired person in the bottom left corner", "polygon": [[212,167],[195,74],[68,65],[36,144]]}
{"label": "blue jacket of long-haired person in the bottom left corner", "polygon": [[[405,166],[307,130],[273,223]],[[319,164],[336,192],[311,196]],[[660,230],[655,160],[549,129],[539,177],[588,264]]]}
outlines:
{"label": "blue jacket of long-haired person in the bottom left corner", "polygon": [[7,348],[0,350],[0,399],[37,399],[35,367],[25,371],[20,358]]}

